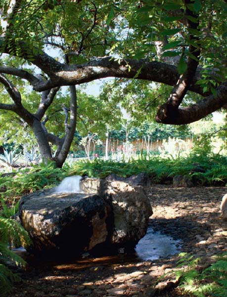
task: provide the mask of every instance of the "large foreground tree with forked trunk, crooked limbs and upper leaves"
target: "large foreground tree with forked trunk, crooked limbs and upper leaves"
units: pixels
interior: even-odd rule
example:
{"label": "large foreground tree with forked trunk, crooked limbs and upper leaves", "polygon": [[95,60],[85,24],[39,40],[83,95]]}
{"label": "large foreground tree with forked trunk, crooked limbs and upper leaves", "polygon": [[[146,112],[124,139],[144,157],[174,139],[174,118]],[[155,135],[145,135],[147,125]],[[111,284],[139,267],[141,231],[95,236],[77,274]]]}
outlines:
{"label": "large foreground tree with forked trunk, crooked limbs and upper leaves", "polygon": [[[1,63],[0,82],[12,103],[0,108],[33,129],[46,160],[52,158],[49,142],[58,141],[58,166],[75,132],[75,86],[85,82],[112,76],[173,86],[156,121],[197,121],[227,104],[226,2],[1,0],[0,52],[11,65]],[[42,93],[35,113],[24,106],[14,77]],[[45,112],[61,86],[70,86],[70,116],[65,137],[56,139],[45,129]],[[188,91],[196,101],[185,100]]]}

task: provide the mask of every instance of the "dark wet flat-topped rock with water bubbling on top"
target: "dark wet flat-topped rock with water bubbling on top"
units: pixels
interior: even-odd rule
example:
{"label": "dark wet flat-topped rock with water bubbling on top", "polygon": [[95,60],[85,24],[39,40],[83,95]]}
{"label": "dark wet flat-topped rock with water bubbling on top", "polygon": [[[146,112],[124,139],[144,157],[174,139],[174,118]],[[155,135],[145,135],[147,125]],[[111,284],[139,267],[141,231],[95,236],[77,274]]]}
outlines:
{"label": "dark wet flat-topped rock with water bubbling on top", "polygon": [[21,199],[19,213],[35,253],[91,250],[106,241],[112,220],[110,205],[95,194],[34,193]]}

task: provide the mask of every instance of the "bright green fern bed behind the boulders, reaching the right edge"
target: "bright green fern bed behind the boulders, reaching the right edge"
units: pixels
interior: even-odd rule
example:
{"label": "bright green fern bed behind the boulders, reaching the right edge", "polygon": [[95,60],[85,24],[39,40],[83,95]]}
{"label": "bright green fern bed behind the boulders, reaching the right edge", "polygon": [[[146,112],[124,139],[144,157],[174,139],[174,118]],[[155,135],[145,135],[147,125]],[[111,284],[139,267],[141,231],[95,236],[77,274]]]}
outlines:
{"label": "bright green fern bed behind the boulders, reaching the right edge", "polygon": [[171,183],[176,175],[190,177],[195,185],[227,184],[227,157],[220,154],[191,154],[187,157],[161,158],[159,156],[131,158],[128,162],[94,159],[72,165],[70,175],[105,178],[110,174],[129,177],[141,172],[150,176],[152,183]]}

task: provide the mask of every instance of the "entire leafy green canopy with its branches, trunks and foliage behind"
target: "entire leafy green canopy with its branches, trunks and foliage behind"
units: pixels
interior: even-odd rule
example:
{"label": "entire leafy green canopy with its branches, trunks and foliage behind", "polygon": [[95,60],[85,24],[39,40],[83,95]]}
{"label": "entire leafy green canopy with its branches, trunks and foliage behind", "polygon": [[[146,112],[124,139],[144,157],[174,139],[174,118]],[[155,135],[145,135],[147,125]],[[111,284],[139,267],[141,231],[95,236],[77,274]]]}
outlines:
{"label": "entire leafy green canopy with its branches, trunks and foliage behind", "polygon": [[[138,126],[155,109],[182,125],[225,106],[224,0],[1,0],[0,12],[3,141],[36,138],[46,163],[63,165],[76,127],[103,139],[124,125],[121,107]],[[111,76],[98,98],[80,91]]]}

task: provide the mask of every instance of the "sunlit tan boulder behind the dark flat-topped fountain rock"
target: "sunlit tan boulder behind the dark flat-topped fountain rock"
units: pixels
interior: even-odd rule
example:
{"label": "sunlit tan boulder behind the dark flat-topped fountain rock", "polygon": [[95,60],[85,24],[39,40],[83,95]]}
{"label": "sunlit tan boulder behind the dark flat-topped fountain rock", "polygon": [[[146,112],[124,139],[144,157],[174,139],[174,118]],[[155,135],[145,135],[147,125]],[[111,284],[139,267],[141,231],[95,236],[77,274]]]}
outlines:
{"label": "sunlit tan boulder behind the dark flat-topped fountain rock", "polygon": [[110,203],[114,219],[111,244],[135,247],[146,234],[153,213],[144,189],[122,181],[89,177],[82,178],[81,189],[87,193],[93,191]]}

